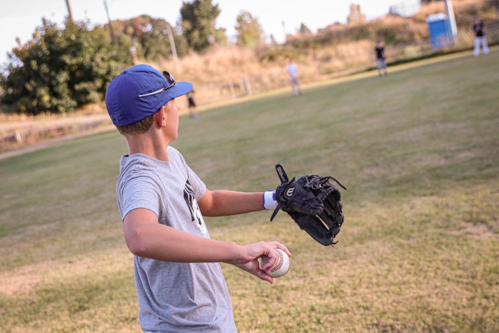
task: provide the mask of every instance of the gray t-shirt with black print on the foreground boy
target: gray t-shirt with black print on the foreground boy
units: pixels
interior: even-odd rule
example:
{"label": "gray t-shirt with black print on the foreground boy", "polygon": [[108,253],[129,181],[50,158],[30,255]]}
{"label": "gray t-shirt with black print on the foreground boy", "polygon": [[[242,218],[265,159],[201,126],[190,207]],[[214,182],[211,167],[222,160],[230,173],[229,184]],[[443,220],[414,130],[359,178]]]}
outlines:
{"label": "gray t-shirt with black print on the foreground boy", "polygon": [[[122,220],[146,208],[159,223],[210,238],[197,201],[206,185],[178,150],[169,161],[144,154],[122,156],[116,187]],[[172,263],[134,256],[139,321],[151,332],[237,332],[219,263]]]}

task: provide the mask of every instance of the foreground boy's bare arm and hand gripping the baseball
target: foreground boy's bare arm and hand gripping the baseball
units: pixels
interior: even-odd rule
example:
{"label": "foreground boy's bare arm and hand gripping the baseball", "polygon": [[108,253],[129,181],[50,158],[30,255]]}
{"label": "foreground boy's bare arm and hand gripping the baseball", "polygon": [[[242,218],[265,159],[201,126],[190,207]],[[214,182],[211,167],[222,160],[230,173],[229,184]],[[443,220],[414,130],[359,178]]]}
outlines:
{"label": "foreground boy's bare arm and hand gripping the baseball", "polygon": [[[192,235],[159,224],[157,215],[145,208],[134,209],[125,216],[123,232],[130,252],[136,256],[184,263],[224,262],[270,283],[273,279],[266,272],[275,268],[278,261],[277,252],[273,249],[279,248],[291,255],[285,246],[276,241],[242,246]],[[263,255],[270,258],[262,267],[264,271],[257,261]]]}

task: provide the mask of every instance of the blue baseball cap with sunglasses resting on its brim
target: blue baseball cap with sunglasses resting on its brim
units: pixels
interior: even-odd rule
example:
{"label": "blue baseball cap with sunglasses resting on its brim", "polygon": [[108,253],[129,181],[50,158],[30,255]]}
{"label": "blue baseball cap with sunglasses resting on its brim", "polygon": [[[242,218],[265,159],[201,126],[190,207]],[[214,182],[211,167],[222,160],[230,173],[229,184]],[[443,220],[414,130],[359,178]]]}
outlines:
{"label": "blue baseball cap with sunglasses resting on its brim", "polygon": [[156,113],[169,100],[192,90],[192,83],[176,82],[173,76],[141,64],[125,69],[106,90],[106,108],[113,124],[125,126]]}

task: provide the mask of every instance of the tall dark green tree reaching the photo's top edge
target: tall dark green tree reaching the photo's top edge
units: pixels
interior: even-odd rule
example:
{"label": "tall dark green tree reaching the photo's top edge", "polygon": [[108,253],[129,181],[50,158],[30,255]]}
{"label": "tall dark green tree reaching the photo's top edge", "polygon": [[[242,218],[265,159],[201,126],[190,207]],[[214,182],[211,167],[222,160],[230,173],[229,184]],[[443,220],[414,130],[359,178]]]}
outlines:
{"label": "tall dark green tree reaching the photo's top edge", "polygon": [[214,43],[224,44],[227,42],[225,29],[215,28],[215,21],[220,14],[220,9],[218,4],[212,4],[212,0],[182,2],[180,14],[187,43],[195,51],[203,51]]}

